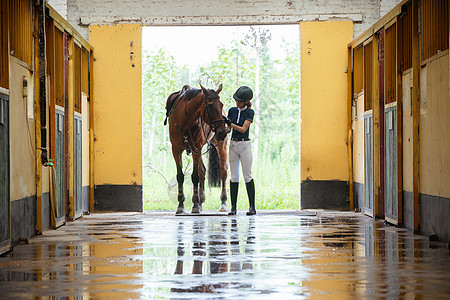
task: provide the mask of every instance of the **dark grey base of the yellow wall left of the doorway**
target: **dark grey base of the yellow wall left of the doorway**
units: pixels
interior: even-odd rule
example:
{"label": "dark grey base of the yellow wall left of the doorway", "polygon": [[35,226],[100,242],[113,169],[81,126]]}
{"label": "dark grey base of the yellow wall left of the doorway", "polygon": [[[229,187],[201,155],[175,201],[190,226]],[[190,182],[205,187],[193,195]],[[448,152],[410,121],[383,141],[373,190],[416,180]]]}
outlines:
{"label": "dark grey base of the yellow wall left of the doorway", "polygon": [[142,185],[97,185],[95,211],[143,211]]}

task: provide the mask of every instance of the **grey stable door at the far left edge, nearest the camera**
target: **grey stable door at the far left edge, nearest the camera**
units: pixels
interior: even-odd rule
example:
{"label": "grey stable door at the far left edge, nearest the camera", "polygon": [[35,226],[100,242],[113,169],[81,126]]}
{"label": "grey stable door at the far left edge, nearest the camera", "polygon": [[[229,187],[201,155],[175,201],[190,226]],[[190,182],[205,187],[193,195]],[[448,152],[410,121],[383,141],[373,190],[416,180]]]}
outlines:
{"label": "grey stable door at the far left edge, nearest the camera", "polygon": [[0,94],[0,254],[11,249],[9,202],[9,97]]}

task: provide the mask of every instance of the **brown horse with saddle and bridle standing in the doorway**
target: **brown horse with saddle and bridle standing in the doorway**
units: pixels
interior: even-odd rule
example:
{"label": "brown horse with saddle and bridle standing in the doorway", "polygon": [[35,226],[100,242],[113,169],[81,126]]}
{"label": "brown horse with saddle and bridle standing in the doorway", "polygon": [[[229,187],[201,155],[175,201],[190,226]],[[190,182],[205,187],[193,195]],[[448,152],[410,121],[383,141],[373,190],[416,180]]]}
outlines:
{"label": "brown horse with saddle and bridle standing in the doorway", "polygon": [[[220,159],[220,176],[222,179],[222,205],[220,210],[226,211],[227,193],[225,188],[227,177],[226,138],[229,133],[222,114],[223,104],[217,91],[183,87],[179,92],[172,93],[166,102],[166,116],[169,119],[169,136],[172,143],[172,154],[177,166],[178,208],[176,214],[184,213],[184,174],[182,169],[182,153],[192,153],[193,171],[192,183],[192,213],[202,211],[205,201],[205,165],[202,160],[202,148],[209,141],[213,132],[212,142],[217,143]],[[167,119],[166,119],[167,121]],[[165,122],[166,123],[166,122]]]}

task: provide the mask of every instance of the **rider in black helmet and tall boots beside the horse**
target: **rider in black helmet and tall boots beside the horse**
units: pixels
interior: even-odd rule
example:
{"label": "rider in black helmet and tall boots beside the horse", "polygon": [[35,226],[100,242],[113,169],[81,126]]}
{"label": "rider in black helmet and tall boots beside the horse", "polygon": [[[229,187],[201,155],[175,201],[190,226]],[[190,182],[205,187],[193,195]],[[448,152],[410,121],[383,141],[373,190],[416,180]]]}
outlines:
{"label": "rider in black helmet and tall boots beside the horse", "polygon": [[253,98],[253,91],[248,86],[241,86],[236,90],[233,98],[236,101],[236,107],[230,108],[227,116],[227,124],[233,129],[229,151],[231,211],[228,214],[236,215],[239,162],[241,162],[249,202],[247,216],[251,216],[256,214],[255,183],[252,178],[252,148],[249,138],[250,124],[253,122],[255,115],[250,102]]}

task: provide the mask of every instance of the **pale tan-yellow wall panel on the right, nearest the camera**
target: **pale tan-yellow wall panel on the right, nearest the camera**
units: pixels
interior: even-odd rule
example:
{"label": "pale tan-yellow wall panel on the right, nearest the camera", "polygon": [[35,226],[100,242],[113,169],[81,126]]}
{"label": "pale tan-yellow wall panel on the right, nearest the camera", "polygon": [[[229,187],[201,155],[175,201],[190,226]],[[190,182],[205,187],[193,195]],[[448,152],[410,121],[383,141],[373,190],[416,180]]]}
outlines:
{"label": "pale tan-yellow wall panel on the right, nearest the camera", "polygon": [[419,192],[450,198],[450,94],[448,52],[421,72]]}

